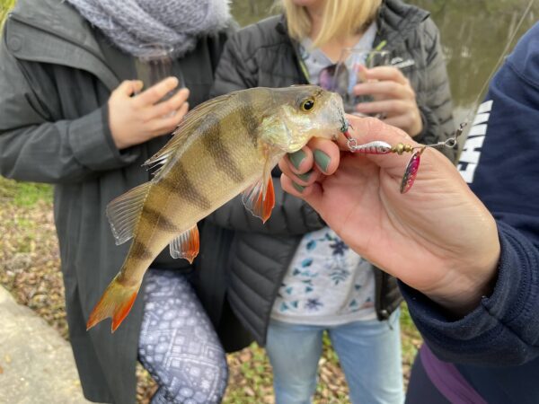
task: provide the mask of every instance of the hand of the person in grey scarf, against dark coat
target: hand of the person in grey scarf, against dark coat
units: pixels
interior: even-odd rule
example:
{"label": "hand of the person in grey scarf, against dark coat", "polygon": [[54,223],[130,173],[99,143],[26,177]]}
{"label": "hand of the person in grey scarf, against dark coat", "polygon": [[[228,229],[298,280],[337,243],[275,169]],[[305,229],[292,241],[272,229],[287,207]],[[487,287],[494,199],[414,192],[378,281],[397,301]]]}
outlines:
{"label": "hand of the person in grey scarf, against dark coat", "polygon": [[110,133],[119,150],[172,133],[189,110],[188,89],[159,102],[178,86],[177,78],[166,78],[143,92],[142,86],[139,80],[127,80],[110,94]]}

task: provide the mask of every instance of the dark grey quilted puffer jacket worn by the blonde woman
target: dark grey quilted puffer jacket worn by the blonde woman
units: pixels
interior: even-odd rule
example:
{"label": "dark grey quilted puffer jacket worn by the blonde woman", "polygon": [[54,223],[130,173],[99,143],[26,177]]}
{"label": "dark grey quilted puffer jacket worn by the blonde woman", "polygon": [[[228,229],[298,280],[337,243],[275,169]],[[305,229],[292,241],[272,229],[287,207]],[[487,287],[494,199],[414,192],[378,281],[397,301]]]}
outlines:
{"label": "dark grey quilted puffer jacket worn by the blonde woman", "polygon": [[[437,27],[429,13],[400,0],[386,0],[377,24],[375,47],[386,40],[384,49],[391,50],[392,57],[415,62],[403,73],[416,92],[424,124],[416,140],[426,144],[445,140],[455,129],[452,103]],[[307,79],[296,57],[296,43],[288,37],[283,17],[276,16],[237,32],[226,43],[213,93],[298,83]],[[454,151],[446,154],[455,159]],[[299,242],[305,233],[325,226],[310,206],[281,189],[278,175],[274,171],[276,203],[266,224],[245,210],[241,197],[234,198],[205,224],[213,243],[201,242],[202,276],[228,285],[228,302],[260,344],[265,343],[271,308]],[[219,229],[234,236],[218,237]],[[225,248],[219,242],[224,239]],[[383,321],[402,298],[393,277],[376,268],[375,272],[376,313]],[[211,296],[214,307],[220,298],[224,295]]]}

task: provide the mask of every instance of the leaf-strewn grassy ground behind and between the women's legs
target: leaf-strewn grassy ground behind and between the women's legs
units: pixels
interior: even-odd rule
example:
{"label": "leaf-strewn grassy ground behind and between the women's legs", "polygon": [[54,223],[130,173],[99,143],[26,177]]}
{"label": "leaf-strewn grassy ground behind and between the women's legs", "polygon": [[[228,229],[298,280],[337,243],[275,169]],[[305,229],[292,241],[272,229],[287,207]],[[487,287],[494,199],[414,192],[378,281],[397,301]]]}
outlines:
{"label": "leaf-strewn grassy ground behind and between the women's legs", "polygon": [[[0,177],[0,285],[4,285],[17,302],[30,307],[67,338],[64,286],[51,210],[52,190],[49,186]],[[401,324],[406,382],[420,336],[405,307]],[[230,382],[225,403],[273,402],[270,363],[261,347],[252,344],[229,355],[228,362]],[[155,383],[140,366],[137,375],[137,402],[147,403]],[[319,376],[314,402],[348,402],[348,388],[327,339]]]}

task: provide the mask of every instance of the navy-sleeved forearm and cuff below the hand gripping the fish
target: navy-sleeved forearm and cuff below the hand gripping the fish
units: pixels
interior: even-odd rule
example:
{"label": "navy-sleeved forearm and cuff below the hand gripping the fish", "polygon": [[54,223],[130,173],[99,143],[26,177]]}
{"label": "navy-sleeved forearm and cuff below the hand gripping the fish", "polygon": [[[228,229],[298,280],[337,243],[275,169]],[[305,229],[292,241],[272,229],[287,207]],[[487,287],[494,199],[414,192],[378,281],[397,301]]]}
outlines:
{"label": "navy-sleeved forearm and cuff below the hand gripping the fish", "polygon": [[[499,224],[501,254],[489,296],[463,316],[402,286],[411,317],[442,359],[472,364],[522,364],[539,356],[539,251]],[[481,292],[478,292],[481,294]]]}

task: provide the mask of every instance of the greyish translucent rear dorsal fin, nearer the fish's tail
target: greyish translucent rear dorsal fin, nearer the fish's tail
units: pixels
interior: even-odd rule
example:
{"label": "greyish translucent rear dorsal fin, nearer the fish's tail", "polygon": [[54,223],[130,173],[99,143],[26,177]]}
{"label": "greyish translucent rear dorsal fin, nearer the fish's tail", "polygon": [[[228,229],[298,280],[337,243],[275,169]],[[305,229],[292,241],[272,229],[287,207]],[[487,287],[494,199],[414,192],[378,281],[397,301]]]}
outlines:
{"label": "greyish translucent rear dorsal fin, nearer the fish's tail", "polygon": [[123,244],[133,237],[138,216],[151,185],[151,182],[139,185],[113,199],[107,205],[107,218],[116,239],[116,245]]}

